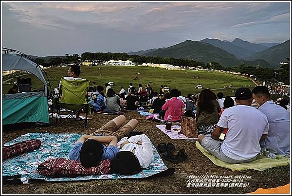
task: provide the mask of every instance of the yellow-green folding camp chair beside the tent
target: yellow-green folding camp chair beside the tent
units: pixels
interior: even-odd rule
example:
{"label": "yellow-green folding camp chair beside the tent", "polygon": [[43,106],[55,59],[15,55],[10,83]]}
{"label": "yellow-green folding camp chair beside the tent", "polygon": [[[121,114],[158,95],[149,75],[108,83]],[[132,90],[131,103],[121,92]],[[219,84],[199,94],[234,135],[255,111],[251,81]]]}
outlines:
{"label": "yellow-green folding camp chair beside the tent", "polygon": [[[77,119],[73,116],[77,114],[82,109],[85,110],[85,120],[81,119],[81,121],[84,123],[82,125],[79,121],[77,121],[80,125],[82,125],[84,128],[86,128],[87,125],[87,116],[89,111],[89,103],[86,99],[86,93],[88,92],[89,87],[89,80],[85,79],[61,79],[61,90],[62,90],[62,96],[60,97],[59,108],[57,109],[57,115],[56,115],[56,124],[55,126],[62,125],[66,120],[73,117],[76,121]],[[61,109],[65,108],[66,112],[69,113],[69,116],[67,116],[63,121],[61,121]],[[57,125],[58,117],[60,119],[60,123]]]}

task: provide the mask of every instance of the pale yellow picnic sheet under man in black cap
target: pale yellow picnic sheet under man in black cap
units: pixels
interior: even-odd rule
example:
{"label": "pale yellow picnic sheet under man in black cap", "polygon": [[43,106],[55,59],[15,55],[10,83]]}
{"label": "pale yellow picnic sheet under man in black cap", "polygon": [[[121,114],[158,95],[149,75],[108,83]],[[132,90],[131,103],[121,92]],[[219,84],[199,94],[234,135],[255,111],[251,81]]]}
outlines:
{"label": "pale yellow picnic sheet under man in black cap", "polygon": [[217,157],[210,154],[205,148],[201,146],[199,142],[196,142],[196,146],[203,153],[203,155],[209,158],[215,165],[231,169],[233,172],[243,171],[243,170],[248,170],[248,169],[264,171],[272,167],[280,167],[280,166],[289,165],[289,162],[290,162],[288,158],[283,157],[283,156],[278,156],[280,159],[275,160],[275,159],[270,159],[270,158],[264,158],[259,155],[257,156],[257,159],[252,162],[231,164],[231,163],[227,163],[222,160],[219,160]]}

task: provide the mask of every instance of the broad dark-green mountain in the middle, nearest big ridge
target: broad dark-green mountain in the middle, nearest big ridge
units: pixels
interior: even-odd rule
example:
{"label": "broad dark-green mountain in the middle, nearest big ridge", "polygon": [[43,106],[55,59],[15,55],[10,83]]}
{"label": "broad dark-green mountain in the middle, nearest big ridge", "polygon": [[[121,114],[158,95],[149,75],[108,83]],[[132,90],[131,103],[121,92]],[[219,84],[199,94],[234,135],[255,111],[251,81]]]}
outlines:
{"label": "broad dark-green mountain in the middle, nearest big ridge", "polygon": [[241,64],[258,67],[270,67],[269,63],[265,60],[239,60],[234,54],[228,53],[212,44],[192,40],[186,40],[182,43],[167,48],[144,53],[143,55],[193,59],[204,63],[215,61],[223,67],[235,67]]}

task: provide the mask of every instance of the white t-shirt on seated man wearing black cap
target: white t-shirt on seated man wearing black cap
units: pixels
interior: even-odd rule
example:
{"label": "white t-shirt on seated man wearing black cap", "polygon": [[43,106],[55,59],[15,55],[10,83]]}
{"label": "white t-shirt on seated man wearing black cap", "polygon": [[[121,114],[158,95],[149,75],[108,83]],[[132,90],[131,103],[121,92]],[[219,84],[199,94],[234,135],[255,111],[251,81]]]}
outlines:
{"label": "white t-shirt on seated man wearing black cap", "polygon": [[269,130],[267,117],[255,107],[244,105],[225,109],[217,125],[228,128],[221,150],[234,160],[256,157],[261,149],[259,140]]}

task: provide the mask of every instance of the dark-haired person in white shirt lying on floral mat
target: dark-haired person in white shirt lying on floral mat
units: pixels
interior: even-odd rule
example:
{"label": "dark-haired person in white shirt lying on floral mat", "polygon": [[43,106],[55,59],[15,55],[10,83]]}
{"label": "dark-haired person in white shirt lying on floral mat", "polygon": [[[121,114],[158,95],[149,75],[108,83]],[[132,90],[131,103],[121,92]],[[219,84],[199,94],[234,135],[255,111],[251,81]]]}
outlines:
{"label": "dark-haired person in white shirt lying on floral mat", "polygon": [[154,161],[150,139],[145,135],[124,137],[117,145],[120,151],[110,161],[112,173],[134,175],[147,168]]}

